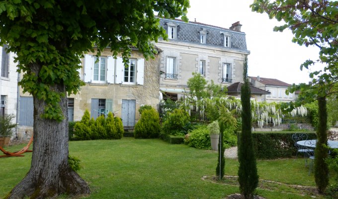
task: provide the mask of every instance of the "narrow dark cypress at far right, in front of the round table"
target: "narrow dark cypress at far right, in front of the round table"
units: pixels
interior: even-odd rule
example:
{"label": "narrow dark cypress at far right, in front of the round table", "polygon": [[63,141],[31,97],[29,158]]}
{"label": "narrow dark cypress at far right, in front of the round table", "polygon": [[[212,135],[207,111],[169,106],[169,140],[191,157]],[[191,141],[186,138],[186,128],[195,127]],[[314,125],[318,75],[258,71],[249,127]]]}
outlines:
{"label": "narrow dark cypress at far right, in front of the round table", "polygon": [[317,144],[315,148],[315,181],[319,193],[324,193],[329,184],[329,167],[325,159],[328,158],[328,149],[323,144],[328,145],[327,121],[328,113],[326,108],[326,97],[318,97],[318,128]]}

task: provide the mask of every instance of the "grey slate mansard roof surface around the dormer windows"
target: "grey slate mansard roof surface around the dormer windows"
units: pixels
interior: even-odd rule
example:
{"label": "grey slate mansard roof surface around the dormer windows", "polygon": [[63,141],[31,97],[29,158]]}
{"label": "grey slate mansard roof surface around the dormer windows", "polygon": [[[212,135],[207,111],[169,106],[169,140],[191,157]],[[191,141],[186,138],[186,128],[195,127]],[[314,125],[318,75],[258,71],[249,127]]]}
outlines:
{"label": "grey slate mansard roof surface around the dormer windows", "polygon": [[[218,47],[224,47],[224,34],[230,35],[231,45],[230,49],[239,49],[247,51],[247,41],[246,34],[244,32],[238,32],[222,27],[207,25],[198,22],[188,23],[183,22],[179,19],[164,19],[160,18],[160,25],[168,30],[167,23],[175,23],[177,24],[177,41],[191,42],[196,44],[200,43],[200,31],[205,30],[207,32],[206,36],[206,44],[201,45],[212,45]],[[228,47],[224,47],[228,48]]]}

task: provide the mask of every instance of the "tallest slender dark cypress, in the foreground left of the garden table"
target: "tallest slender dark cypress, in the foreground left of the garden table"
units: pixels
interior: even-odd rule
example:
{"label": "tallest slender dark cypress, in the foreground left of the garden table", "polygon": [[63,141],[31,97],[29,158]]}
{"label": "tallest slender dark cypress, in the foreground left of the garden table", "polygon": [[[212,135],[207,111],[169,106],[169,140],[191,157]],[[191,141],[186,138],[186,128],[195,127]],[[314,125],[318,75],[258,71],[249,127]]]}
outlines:
{"label": "tallest slender dark cypress, in the foreground left of the garden table", "polygon": [[256,167],[256,158],[254,155],[253,137],[251,132],[251,91],[248,80],[248,57],[246,56],[243,64],[244,84],[241,89],[242,101],[242,132],[239,136],[238,161],[240,167],[238,170],[238,181],[240,191],[245,199],[254,198],[254,190],[258,185],[258,175]]}

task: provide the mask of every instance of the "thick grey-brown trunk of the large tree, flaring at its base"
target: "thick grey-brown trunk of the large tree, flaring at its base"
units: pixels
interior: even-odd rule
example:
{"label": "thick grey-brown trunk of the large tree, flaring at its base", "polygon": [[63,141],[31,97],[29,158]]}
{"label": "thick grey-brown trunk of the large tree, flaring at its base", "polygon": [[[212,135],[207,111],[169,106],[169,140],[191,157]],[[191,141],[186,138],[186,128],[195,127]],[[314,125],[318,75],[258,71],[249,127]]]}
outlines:
{"label": "thick grey-brown trunk of the large tree, flaring at its base", "polygon": [[[50,87],[65,93],[63,85]],[[66,96],[66,95],[65,95]],[[60,105],[65,118],[62,122],[42,118],[45,101],[34,100],[34,143],[31,168],[25,178],[6,196],[6,199],[45,199],[60,194],[70,196],[89,194],[86,182],[68,164],[67,97]]]}

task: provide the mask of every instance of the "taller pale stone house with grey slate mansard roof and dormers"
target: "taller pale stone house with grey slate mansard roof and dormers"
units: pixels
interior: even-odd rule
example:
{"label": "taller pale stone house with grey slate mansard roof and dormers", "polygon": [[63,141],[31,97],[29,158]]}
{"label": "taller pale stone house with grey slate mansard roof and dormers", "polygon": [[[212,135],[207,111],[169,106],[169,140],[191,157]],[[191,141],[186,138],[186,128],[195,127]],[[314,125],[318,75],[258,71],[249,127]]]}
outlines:
{"label": "taller pale stone house with grey slate mansard roof and dormers", "polygon": [[183,97],[193,72],[223,87],[242,82],[243,61],[250,51],[240,22],[229,29],[178,19],[160,19],[160,25],[169,38],[156,44],[163,51],[160,91],[166,96],[174,100]]}

